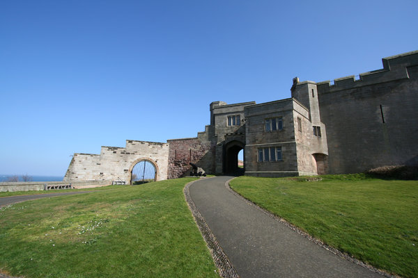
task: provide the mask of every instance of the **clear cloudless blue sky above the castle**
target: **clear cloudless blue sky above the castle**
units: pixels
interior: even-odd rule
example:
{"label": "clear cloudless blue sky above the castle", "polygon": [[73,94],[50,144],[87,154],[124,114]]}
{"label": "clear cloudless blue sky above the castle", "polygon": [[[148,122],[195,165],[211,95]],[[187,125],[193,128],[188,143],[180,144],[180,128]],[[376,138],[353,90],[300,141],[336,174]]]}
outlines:
{"label": "clear cloudless blue sky above the castle", "polygon": [[[284,3],[288,2],[288,3]],[[418,49],[418,1],[0,1],[0,173],[63,176],[75,152],[194,137],[212,101]]]}

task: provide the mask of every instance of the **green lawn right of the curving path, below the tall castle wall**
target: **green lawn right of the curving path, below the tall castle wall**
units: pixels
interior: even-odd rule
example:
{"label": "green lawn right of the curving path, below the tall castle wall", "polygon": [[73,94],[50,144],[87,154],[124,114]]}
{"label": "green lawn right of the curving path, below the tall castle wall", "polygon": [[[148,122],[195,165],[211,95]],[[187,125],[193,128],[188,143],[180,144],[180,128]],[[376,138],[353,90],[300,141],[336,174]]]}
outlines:
{"label": "green lawn right of the curving path, below the tall castle wall", "polygon": [[418,277],[418,181],[364,174],[322,181],[239,177],[231,188],[327,245],[387,272]]}

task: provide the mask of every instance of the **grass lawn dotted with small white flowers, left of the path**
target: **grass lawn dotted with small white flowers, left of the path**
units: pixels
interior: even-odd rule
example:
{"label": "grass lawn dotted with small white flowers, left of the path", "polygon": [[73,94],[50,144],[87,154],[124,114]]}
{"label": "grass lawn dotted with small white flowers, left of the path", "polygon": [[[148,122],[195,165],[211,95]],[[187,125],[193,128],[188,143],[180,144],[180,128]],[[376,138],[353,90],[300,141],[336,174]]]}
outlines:
{"label": "grass lawn dotted with small white flowers, left of the path", "polygon": [[183,196],[192,180],[114,186],[1,208],[0,272],[219,277]]}

